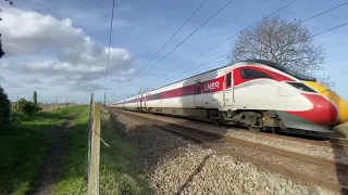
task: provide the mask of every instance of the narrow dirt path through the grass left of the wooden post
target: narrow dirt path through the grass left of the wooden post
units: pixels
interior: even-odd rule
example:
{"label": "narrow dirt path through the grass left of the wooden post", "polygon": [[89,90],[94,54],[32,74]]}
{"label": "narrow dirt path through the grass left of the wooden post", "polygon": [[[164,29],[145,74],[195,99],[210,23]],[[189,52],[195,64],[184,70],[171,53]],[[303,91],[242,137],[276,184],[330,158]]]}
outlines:
{"label": "narrow dirt path through the grass left of the wooden post", "polygon": [[52,147],[46,157],[39,178],[33,188],[28,192],[28,195],[52,194],[52,187],[57,177],[57,168],[64,154],[64,139],[69,130],[72,128],[73,120],[74,118],[69,118],[65,126],[51,128],[49,136],[51,136],[53,142]]}

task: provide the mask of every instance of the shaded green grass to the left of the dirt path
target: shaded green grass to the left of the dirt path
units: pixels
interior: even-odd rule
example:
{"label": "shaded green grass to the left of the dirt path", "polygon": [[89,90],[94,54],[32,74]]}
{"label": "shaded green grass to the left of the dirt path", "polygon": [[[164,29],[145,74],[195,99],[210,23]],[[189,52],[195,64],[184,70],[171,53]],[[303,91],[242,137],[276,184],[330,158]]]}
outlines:
{"label": "shaded green grass to the left of the dirt path", "polygon": [[77,114],[65,108],[22,118],[0,134],[0,194],[26,194],[38,177],[51,146],[48,131]]}

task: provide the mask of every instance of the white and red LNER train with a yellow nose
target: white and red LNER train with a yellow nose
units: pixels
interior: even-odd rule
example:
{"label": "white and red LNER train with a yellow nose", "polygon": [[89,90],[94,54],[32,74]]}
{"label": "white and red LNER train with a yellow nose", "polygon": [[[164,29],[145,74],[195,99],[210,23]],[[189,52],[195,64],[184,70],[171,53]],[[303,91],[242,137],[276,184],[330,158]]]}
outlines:
{"label": "white and red LNER train with a yellow nose", "polygon": [[228,64],[111,107],[308,134],[332,134],[333,127],[348,121],[348,104],[333,90],[264,60]]}

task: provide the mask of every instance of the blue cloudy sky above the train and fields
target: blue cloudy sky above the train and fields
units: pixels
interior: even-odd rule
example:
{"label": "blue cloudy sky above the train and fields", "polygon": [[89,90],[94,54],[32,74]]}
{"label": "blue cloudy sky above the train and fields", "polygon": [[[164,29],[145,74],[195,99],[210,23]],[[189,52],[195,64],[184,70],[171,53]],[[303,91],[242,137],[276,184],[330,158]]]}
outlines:
{"label": "blue cloudy sky above the train and fields", "polygon": [[[177,68],[293,0],[234,0],[158,63],[228,1],[207,0],[148,63],[204,0],[115,0],[107,101],[114,102],[148,88],[228,64],[226,57],[207,62],[227,53],[237,37]],[[287,20],[304,20],[344,2],[297,0],[276,15]],[[16,100],[17,93],[20,98],[29,99],[34,90],[38,92],[39,102],[54,102],[58,99],[59,102],[87,103],[91,92],[97,101],[102,101],[111,8],[112,0],[14,0],[13,6],[0,0],[0,32],[7,53],[0,58],[0,83],[11,101]],[[316,34],[347,23],[347,18],[348,4],[303,24],[312,34]],[[348,26],[344,26],[314,37],[314,43],[324,48],[326,56],[324,70],[320,74],[332,77],[334,90],[345,100],[348,100],[347,35]],[[135,81],[136,74],[147,63],[142,73],[156,66]],[[203,63],[207,64],[182,74]],[[175,78],[170,79],[172,77]]]}

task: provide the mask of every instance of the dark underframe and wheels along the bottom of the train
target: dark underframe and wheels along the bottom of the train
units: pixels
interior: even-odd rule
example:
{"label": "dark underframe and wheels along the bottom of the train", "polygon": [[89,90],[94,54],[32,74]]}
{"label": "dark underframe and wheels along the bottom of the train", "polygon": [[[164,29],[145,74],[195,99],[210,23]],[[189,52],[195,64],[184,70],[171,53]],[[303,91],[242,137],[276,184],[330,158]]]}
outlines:
{"label": "dark underframe and wheels along the bottom of the train", "polygon": [[286,132],[295,134],[306,134],[312,136],[333,135],[333,131],[327,129],[326,132],[319,132],[313,130],[293,129],[287,128],[274,110],[219,110],[207,108],[167,108],[167,107],[133,107],[126,108],[142,113],[161,114],[169,116],[179,116],[185,118],[194,118],[201,120],[209,120],[216,125],[238,126],[248,128],[253,131],[271,131],[271,132]]}

